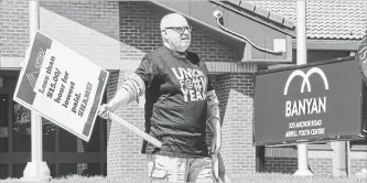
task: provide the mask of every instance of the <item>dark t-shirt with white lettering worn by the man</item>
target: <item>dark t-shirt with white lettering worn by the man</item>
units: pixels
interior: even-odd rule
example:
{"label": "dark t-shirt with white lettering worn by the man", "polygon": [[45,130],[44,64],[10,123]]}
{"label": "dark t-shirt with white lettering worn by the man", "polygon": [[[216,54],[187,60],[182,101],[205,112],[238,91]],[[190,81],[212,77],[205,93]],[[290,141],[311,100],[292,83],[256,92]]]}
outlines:
{"label": "dark t-shirt with white lettering worn by the man", "polygon": [[165,46],[147,54],[136,74],[145,83],[145,132],[162,148],[143,142],[142,153],[207,157],[206,92],[213,89],[197,54]]}

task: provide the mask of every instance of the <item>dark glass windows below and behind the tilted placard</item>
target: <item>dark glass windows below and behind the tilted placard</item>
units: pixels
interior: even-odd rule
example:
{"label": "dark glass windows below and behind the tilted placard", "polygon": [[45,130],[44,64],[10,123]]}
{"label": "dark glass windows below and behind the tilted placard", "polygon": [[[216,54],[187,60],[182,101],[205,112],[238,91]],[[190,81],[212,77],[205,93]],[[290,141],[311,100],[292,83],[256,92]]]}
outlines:
{"label": "dark glass windows below and behind the tilted placard", "polygon": [[[9,133],[0,131],[0,179],[23,176],[24,168],[31,160],[31,111],[9,99],[9,96],[0,94],[0,129],[11,129]],[[1,98],[8,101],[3,103]],[[104,103],[106,98],[105,93]],[[42,123],[43,160],[48,165],[51,176],[107,174],[107,120],[96,118],[89,142],[44,118]],[[3,138],[7,136],[10,138]]]}

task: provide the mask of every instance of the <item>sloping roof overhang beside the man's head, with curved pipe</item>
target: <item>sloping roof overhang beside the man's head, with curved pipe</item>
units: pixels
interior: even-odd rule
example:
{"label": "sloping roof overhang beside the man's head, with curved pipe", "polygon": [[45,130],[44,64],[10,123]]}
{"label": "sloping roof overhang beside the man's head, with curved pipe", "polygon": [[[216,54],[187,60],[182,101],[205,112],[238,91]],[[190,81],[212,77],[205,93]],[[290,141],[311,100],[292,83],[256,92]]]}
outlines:
{"label": "sloping roof overhang beside the man's head, with curved pipe", "polygon": [[[235,50],[234,62],[292,62],[292,37],[295,34],[294,30],[271,19],[266,19],[265,15],[260,17],[259,13],[266,13],[259,12],[259,9],[257,12],[251,13],[239,6],[217,0],[150,0],[145,3],[151,7],[154,13],[162,15],[169,12],[179,12],[194,28],[227,43]],[[230,30],[230,32],[222,29],[217,23],[217,19],[213,15],[213,12],[217,10],[223,13],[222,25]],[[273,54],[258,49],[263,47],[272,51],[279,46],[279,42],[276,43],[276,40],[281,41],[282,53]]]}

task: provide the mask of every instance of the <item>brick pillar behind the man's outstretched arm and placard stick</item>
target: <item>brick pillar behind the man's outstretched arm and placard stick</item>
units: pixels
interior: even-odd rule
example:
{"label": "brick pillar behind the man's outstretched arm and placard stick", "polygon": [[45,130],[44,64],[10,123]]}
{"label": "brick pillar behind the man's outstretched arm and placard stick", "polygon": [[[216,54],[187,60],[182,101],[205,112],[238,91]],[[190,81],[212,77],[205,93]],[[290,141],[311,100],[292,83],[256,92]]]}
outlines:
{"label": "brick pillar behind the man's outstretched arm and placard stick", "polygon": [[[112,72],[108,86],[108,100],[115,95],[123,79],[130,72]],[[131,122],[132,125],[144,129],[144,110],[136,101],[126,107],[117,109],[116,114]],[[117,122],[108,122],[107,126],[107,174],[109,176],[137,176],[148,173],[145,157],[140,153],[142,139]]]}

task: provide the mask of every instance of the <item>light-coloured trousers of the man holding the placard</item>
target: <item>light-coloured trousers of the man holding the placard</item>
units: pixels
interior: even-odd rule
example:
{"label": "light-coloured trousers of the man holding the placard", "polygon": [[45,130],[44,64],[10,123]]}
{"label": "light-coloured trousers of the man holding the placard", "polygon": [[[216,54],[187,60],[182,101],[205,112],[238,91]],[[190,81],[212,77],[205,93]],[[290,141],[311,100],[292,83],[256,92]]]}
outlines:
{"label": "light-coloured trousers of the man holding the placard", "polygon": [[211,158],[175,158],[148,154],[151,183],[156,182],[208,182],[213,183]]}

